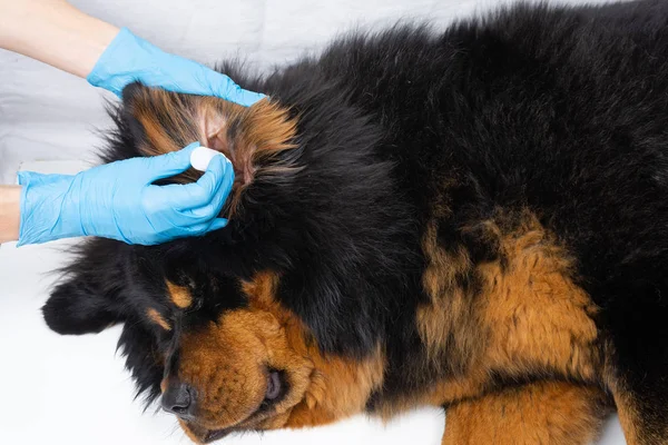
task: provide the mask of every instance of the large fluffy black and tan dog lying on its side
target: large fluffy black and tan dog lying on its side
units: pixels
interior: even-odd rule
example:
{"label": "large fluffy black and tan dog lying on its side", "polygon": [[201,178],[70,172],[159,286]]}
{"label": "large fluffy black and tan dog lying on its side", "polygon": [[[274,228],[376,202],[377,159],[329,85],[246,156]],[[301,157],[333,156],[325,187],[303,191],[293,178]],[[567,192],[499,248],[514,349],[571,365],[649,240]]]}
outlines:
{"label": "large fluffy black and tan dog lying on its side", "polygon": [[130,86],[105,160],[225,152],[229,226],[90,240],[52,329],[125,323],[139,389],[198,442],[434,405],[444,444],[584,444],[610,408],[668,443],[668,2],[224,71],[271,100]]}

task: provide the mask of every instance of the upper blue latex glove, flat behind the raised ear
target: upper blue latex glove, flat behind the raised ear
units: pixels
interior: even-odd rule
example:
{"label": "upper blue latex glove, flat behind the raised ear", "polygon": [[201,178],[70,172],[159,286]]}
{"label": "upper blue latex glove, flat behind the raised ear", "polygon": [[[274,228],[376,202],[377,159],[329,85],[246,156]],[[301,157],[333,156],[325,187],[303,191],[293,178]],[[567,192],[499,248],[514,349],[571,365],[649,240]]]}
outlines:
{"label": "upper blue latex glove, flat behind the raised ear", "polygon": [[265,97],[242,89],[227,76],[210,68],[164,52],[126,28],[109,43],[87,80],[118,97],[134,81],[168,91],[216,96],[245,107]]}

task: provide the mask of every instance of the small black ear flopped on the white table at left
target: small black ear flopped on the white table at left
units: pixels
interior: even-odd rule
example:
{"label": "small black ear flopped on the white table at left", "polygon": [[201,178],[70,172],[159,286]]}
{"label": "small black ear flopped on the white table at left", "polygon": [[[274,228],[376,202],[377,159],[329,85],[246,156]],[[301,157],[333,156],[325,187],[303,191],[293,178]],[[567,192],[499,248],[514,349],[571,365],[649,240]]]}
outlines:
{"label": "small black ear flopped on the white table at left", "polygon": [[59,334],[99,333],[125,320],[125,289],[130,246],[91,239],[63,269],[65,279],[42,307],[47,325]]}

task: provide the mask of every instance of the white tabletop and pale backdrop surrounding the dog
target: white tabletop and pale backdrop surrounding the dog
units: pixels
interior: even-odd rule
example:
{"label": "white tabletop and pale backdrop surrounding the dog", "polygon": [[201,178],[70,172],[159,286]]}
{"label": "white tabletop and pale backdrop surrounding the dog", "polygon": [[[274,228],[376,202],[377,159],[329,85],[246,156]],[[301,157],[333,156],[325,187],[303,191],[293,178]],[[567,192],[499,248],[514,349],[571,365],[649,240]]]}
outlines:
{"label": "white tabletop and pale backdrop surrounding the dog", "polygon": [[[578,0],[561,0],[577,3]],[[602,0],[589,0],[599,3]],[[452,19],[494,0],[77,0],[86,12],[128,27],[165,50],[213,65],[240,56],[258,70],[296,59],[355,26],[402,18]],[[2,13],[0,11],[0,13]],[[110,95],[33,60],[0,50],[0,184],[24,168],[77,170],[101,145]],[[53,162],[57,161],[57,162]],[[0,444],[188,444],[175,421],[132,402],[115,354],[119,329],[61,337],[45,326],[46,300],[77,240],[0,248]],[[299,432],[233,437],[229,444],[440,444],[443,415],[424,409],[389,426],[363,417]],[[623,444],[617,422],[601,444]]]}

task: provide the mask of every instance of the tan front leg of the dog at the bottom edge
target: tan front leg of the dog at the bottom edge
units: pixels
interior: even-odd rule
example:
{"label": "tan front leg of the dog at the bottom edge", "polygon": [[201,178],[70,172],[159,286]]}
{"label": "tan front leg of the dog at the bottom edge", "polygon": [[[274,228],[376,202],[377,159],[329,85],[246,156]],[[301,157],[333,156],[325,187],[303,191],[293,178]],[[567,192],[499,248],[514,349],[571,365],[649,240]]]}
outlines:
{"label": "tan front leg of the dog at the bottom edge", "polygon": [[539,382],[449,406],[443,445],[586,445],[610,413],[605,393]]}

